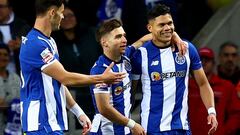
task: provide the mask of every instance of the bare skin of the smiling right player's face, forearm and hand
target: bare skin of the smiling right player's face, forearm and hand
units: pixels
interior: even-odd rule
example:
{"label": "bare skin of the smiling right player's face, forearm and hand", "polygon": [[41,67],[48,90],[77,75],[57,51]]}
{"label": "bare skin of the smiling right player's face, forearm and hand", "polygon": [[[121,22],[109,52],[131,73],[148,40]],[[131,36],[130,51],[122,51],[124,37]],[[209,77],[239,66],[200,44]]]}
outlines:
{"label": "bare skin of the smiling right player's face, forearm and hand", "polygon": [[[174,33],[174,24],[170,14],[160,15],[149,21],[148,30],[152,33],[152,41],[158,47],[166,47],[171,44],[171,39]],[[203,68],[193,71],[196,82],[200,88],[200,95],[206,109],[214,107],[214,96],[212,88],[209,85]],[[133,88],[136,89],[138,81],[133,81]],[[207,117],[208,124],[211,128],[208,134],[213,134],[217,129],[217,119],[214,114]]]}

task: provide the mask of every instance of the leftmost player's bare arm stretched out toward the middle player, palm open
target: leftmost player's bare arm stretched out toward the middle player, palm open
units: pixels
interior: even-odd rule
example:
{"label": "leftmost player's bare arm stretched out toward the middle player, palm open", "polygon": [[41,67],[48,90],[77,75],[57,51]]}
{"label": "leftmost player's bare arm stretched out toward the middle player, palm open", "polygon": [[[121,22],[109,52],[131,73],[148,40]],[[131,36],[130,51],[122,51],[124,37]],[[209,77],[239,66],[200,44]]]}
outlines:
{"label": "leftmost player's bare arm stretched out toward the middle player, palm open", "polygon": [[125,73],[112,72],[110,69],[112,63],[101,75],[85,75],[79,73],[68,72],[62,64],[54,61],[51,65],[43,69],[43,72],[66,86],[86,86],[97,83],[118,83],[125,77]]}

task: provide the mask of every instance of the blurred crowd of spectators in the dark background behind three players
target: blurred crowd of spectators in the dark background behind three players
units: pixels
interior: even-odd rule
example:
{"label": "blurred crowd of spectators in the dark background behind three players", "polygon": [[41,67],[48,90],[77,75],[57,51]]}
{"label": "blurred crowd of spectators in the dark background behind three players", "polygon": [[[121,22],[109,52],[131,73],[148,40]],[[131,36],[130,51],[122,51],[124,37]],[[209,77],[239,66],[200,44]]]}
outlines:
{"label": "blurred crowd of spectators in the dark background behind three players", "polygon": [[[55,31],[60,61],[72,72],[89,74],[102,54],[95,40],[99,22],[122,20],[129,44],[147,33],[146,12],[154,4],[171,7],[176,32],[192,40],[208,19],[231,0],[65,0],[61,29]],[[21,134],[20,68],[21,37],[31,29],[35,19],[34,0],[0,0],[0,134]],[[197,6],[196,6],[197,5]],[[211,48],[199,48],[204,71],[213,88],[219,128],[216,135],[240,135],[239,45],[226,41],[218,54]],[[69,88],[76,101],[92,119],[93,105],[88,87]],[[77,91],[81,92],[77,92]],[[194,79],[189,86],[190,121],[193,135],[207,134],[207,113]],[[78,125],[76,128],[79,128]],[[199,132],[201,130],[201,132]]]}

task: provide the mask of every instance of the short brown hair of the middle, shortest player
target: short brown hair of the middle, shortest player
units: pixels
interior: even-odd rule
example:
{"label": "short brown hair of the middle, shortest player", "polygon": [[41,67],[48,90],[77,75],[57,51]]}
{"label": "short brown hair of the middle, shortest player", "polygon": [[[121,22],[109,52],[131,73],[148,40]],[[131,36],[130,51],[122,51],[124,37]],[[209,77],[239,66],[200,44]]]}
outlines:
{"label": "short brown hair of the middle, shortest player", "polygon": [[122,26],[122,22],[117,19],[111,19],[104,21],[100,24],[99,28],[96,31],[96,40],[100,43],[101,38],[111,32],[112,30]]}

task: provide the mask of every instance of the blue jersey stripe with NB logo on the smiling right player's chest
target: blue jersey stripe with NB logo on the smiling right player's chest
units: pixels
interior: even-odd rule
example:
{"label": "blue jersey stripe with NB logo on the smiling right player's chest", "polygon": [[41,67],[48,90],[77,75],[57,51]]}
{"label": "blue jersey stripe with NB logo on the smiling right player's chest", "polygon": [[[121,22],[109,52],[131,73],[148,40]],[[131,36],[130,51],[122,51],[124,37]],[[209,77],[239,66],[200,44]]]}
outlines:
{"label": "blue jersey stripe with NB logo on the smiling right player's chest", "polygon": [[[146,48],[148,55],[148,74],[151,78],[152,72],[162,73],[160,51],[152,44]],[[151,65],[153,61],[159,61],[158,65]],[[151,99],[150,99],[150,112],[148,119],[148,132],[160,132],[159,125],[162,118],[163,108],[163,80],[151,81]]]}

